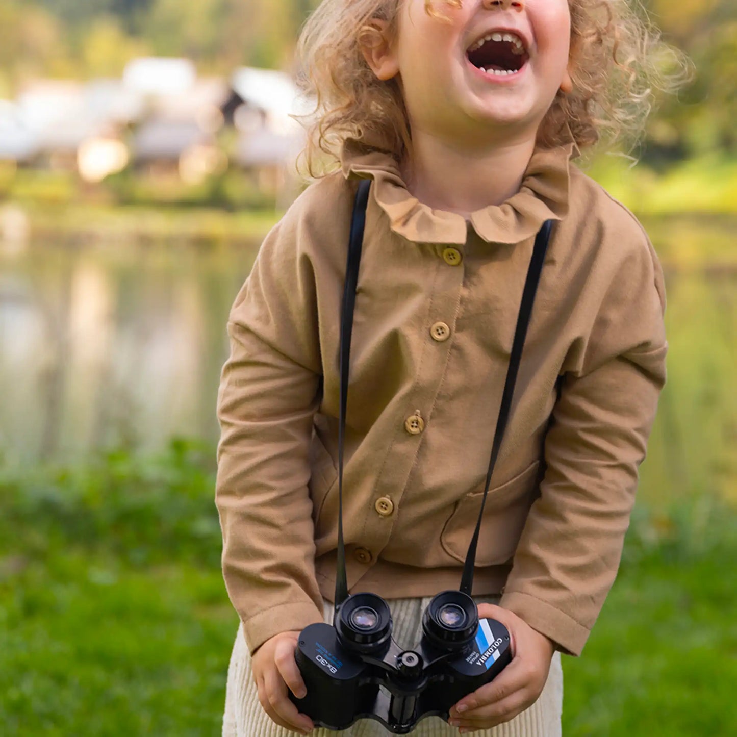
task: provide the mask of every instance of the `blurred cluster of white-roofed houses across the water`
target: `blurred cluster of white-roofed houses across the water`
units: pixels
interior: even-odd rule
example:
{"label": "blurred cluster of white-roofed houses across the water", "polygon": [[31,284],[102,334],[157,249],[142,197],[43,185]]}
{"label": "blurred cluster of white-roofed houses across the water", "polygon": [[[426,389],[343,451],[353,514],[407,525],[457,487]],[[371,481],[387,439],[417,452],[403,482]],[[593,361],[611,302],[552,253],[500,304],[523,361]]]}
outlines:
{"label": "blurred cluster of white-roofed houses across the water", "polygon": [[76,171],[102,181],[128,164],[198,184],[228,161],[290,202],[309,111],[288,74],[244,67],[198,77],[184,58],[131,61],[120,80],[38,80],[0,101],[0,160]]}

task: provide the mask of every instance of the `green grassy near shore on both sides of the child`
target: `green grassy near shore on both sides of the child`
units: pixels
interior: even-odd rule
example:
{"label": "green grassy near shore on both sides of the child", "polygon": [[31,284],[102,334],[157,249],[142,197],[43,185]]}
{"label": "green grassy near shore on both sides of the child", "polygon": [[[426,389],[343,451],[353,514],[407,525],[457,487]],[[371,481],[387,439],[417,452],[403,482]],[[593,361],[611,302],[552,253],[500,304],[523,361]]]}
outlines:
{"label": "green grassy near shore on both sides of the child", "polygon": [[[116,451],[0,478],[0,734],[220,733],[237,618],[212,448]],[[638,506],[581,658],[566,737],[726,736],[737,720],[737,511]]]}

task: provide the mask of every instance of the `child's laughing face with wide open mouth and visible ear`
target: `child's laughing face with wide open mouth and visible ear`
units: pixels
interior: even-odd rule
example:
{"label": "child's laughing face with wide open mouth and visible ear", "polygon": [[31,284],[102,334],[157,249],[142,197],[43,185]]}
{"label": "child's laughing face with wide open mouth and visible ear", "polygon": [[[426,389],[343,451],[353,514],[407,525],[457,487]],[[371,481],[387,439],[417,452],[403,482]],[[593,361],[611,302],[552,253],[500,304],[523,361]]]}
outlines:
{"label": "child's laughing face with wide open mouth and visible ear", "polygon": [[568,0],[436,7],[449,22],[427,15],[425,0],[403,0],[397,38],[371,65],[399,75],[413,130],[475,147],[537,136],[559,88],[570,88]]}

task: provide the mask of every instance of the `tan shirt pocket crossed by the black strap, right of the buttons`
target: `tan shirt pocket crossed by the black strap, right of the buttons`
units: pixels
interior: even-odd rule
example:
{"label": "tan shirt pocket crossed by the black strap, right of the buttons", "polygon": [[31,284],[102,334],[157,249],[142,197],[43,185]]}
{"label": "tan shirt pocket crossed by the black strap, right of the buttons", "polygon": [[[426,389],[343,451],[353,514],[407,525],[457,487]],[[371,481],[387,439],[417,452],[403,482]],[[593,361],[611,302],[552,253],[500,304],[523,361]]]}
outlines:
{"label": "tan shirt pocket crossed by the black strap, right of the buttons", "polygon": [[[476,565],[501,565],[514,556],[530,506],[536,496],[540,461],[533,461],[500,486],[489,489],[483,507],[481,533],[476,548]],[[483,489],[470,492],[455,503],[440,536],[444,551],[464,562],[481,512]]]}

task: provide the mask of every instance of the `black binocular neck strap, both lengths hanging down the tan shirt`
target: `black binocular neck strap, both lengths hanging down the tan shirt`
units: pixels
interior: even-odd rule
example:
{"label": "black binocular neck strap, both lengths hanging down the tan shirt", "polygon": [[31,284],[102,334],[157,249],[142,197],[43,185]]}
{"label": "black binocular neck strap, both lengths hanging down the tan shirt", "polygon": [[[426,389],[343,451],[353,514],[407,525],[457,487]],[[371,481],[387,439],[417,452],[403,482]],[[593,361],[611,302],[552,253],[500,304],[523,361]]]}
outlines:
{"label": "black binocular neck strap, both lengths hanging down the tan shirt", "polygon": [[[348,375],[351,354],[351,335],[353,332],[353,313],[356,302],[356,287],[358,284],[358,268],[360,265],[361,250],[363,248],[363,232],[366,228],[366,206],[368,205],[368,191],[371,189],[371,180],[363,179],[358,185],[356,200],[351,222],[351,236],[348,248],[348,263],[346,266],[346,282],[343,290],[343,307],[340,317],[340,417],[338,419],[338,564],[335,578],[335,609],[343,604],[348,598],[348,581],[346,577],[346,549],[343,542],[343,439],[346,433],[346,411],[348,405]],[[511,356],[509,358],[509,369],[507,370],[506,382],[502,394],[497,427],[492,444],[492,456],[489,461],[489,470],[486,473],[486,486],[483,490],[481,501],[481,512],[474,531],[471,544],[468,548],[466,562],[464,564],[463,577],[461,579],[461,591],[471,595],[473,587],[473,570],[476,559],[476,546],[478,536],[481,532],[481,520],[483,520],[483,507],[486,504],[486,495],[492,481],[492,473],[497,462],[499,449],[501,447],[511,401],[514,395],[514,384],[517,381],[517,373],[520,369],[520,360],[525,345],[525,337],[530,324],[532,306],[537,293],[542,265],[545,262],[545,253],[548,250],[552,221],[546,221],[535,239],[535,247],[532,253],[530,266],[525,281],[525,288],[520,305],[520,314],[517,318],[517,329],[514,332]]]}

